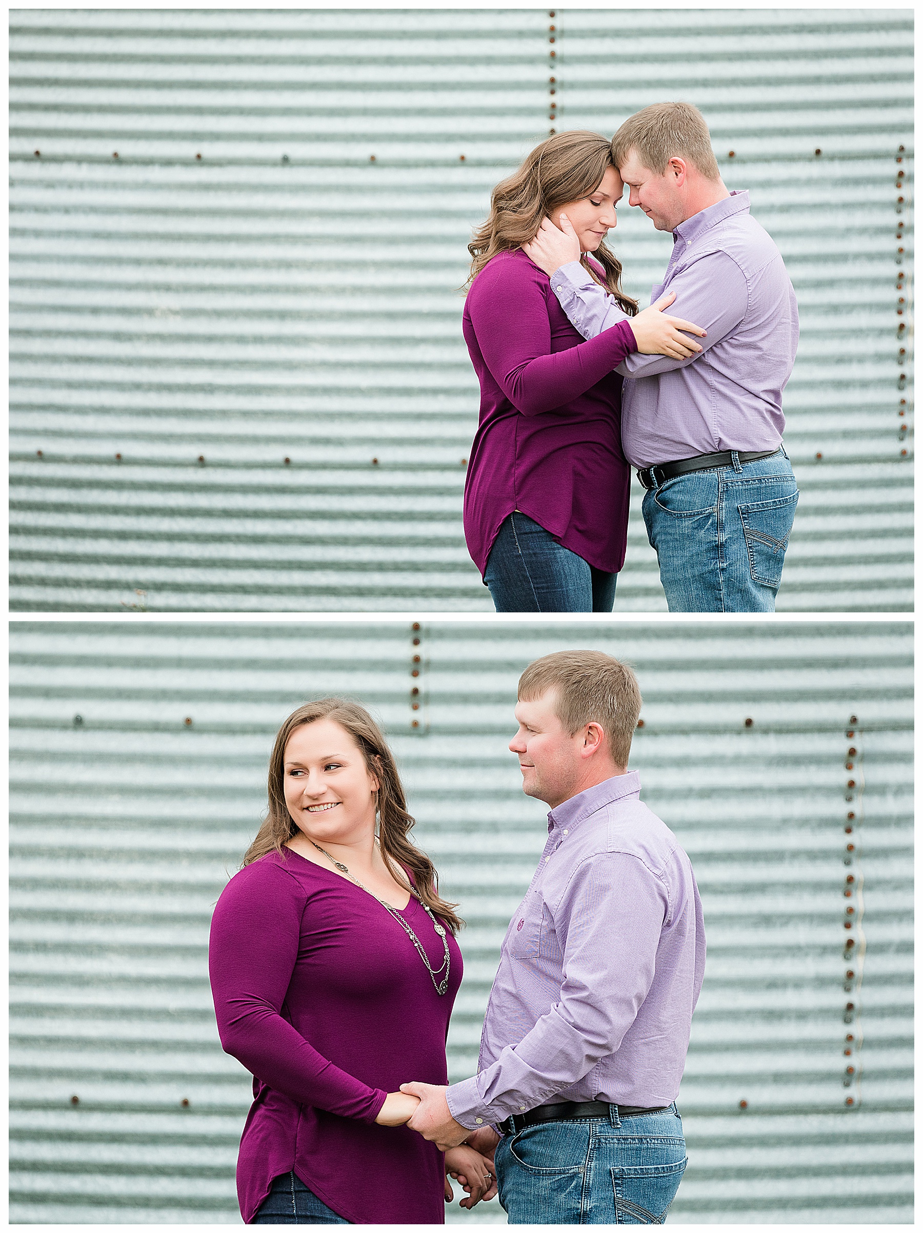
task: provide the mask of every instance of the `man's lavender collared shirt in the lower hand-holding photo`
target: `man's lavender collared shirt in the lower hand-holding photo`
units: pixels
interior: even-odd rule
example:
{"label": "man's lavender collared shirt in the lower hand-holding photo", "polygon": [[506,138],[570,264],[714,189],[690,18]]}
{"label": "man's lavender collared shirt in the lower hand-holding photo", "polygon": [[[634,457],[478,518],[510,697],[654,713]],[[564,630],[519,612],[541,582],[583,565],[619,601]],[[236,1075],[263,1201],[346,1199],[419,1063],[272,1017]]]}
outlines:
{"label": "man's lavender collared shirt in the lower hand-holding photo", "polygon": [[447,1092],[462,1126],[563,1100],[676,1099],[705,925],[689,857],[639,793],[629,772],[548,815],[503,938],[478,1075]]}

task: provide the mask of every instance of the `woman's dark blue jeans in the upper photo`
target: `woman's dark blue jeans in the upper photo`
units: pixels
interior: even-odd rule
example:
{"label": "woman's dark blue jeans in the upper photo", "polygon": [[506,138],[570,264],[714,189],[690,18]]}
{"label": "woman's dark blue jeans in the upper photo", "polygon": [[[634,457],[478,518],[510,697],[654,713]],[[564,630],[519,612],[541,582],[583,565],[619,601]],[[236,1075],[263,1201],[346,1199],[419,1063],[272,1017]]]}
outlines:
{"label": "woman's dark blue jeans in the upper photo", "polygon": [[617,578],[518,509],[503,520],[484,571],[499,613],[611,613]]}

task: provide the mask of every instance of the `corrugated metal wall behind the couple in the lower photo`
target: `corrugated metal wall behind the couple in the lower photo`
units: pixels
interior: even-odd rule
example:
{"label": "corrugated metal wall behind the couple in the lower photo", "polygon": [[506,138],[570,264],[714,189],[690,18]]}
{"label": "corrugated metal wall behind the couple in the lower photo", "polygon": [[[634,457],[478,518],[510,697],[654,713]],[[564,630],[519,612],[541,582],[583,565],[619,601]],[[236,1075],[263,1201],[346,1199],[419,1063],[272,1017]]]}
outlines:
{"label": "corrugated metal wall behind the couple in the lower photo", "polygon": [[569,646],[635,665],[632,762],[706,909],[671,1221],[912,1221],[909,623],[142,620],[12,628],[14,1222],[239,1219],[249,1091],[217,1041],[209,920],[307,697],[386,725],[469,922],[449,1052],[474,1071],[543,846],[506,750],[516,681]]}

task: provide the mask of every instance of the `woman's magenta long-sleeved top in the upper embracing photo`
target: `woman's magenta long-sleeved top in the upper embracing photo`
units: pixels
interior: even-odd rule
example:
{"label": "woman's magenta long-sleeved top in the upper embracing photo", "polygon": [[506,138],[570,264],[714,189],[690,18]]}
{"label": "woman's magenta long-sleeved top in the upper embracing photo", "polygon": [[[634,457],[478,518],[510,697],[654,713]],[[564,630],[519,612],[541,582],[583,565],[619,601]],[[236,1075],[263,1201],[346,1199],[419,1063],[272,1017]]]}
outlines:
{"label": "woman's magenta long-sleeved top in the upper embracing photo", "polygon": [[497,253],[471,284],[463,330],[481,383],[464,503],[468,551],[481,576],[515,509],[616,573],[624,563],[629,469],[622,377],[612,370],[635,349],[632,327],[619,322],[585,343],[548,275],[516,249]]}

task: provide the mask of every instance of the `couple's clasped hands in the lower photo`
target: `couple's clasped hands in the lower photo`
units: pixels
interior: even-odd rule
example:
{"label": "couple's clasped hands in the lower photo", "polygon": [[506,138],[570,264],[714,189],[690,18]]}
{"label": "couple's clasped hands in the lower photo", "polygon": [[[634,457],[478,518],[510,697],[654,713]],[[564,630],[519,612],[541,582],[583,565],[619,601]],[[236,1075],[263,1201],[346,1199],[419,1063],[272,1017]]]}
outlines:
{"label": "couple's clasped hands in the lower photo", "polygon": [[478,1131],[457,1122],[445,1100],[445,1088],[428,1083],[405,1083],[389,1092],[375,1118],[380,1126],[410,1126],[445,1153],[445,1201],[452,1201],[453,1176],[468,1194],[462,1207],[474,1207],[497,1192],[494,1148],[499,1136],[489,1126]]}

